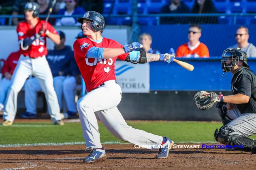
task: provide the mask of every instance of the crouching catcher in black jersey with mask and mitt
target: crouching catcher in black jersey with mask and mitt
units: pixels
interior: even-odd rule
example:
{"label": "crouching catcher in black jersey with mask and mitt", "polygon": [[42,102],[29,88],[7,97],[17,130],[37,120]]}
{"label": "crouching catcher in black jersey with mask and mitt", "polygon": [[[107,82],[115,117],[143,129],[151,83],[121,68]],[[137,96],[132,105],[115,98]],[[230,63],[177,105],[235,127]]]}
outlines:
{"label": "crouching catcher in black jersey with mask and mitt", "polygon": [[240,48],[228,48],[222,54],[223,77],[233,73],[233,95],[217,95],[200,91],[194,95],[198,109],[209,109],[217,103],[223,126],[214,137],[225,145],[244,145],[244,150],[256,153],[256,141],[248,138],[256,134],[256,75],[247,64],[247,54]]}

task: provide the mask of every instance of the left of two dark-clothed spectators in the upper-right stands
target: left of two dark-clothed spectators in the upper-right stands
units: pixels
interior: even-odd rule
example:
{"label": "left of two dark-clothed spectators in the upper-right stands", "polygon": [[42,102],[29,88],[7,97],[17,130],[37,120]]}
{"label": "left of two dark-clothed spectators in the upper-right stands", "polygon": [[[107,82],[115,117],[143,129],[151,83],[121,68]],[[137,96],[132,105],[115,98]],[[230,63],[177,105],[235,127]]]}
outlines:
{"label": "left of two dark-clothed spectators in the upper-right stands", "polygon": [[[179,14],[190,13],[189,7],[180,0],[171,0],[170,4],[166,4],[161,8],[160,13],[163,14]],[[160,17],[160,24],[188,23],[186,17]]]}

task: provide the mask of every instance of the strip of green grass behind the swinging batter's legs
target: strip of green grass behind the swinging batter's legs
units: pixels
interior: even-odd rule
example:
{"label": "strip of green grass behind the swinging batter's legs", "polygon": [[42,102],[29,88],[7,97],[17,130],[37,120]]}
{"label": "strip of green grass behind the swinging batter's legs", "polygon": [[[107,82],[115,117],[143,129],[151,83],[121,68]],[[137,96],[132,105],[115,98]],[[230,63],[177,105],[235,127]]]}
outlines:
{"label": "strip of green grass behind the swinging batter's legs", "polygon": [[[175,142],[215,141],[214,131],[220,122],[169,122],[169,121],[127,121],[134,128],[160,136],[168,136]],[[100,140],[122,142],[113,136],[100,122]],[[256,136],[252,136],[256,139]],[[0,145],[32,143],[71,143],[84,142],[80,123],[66,123],[54,126],[51,122],[15,123],[13,126],[0,126]]]}

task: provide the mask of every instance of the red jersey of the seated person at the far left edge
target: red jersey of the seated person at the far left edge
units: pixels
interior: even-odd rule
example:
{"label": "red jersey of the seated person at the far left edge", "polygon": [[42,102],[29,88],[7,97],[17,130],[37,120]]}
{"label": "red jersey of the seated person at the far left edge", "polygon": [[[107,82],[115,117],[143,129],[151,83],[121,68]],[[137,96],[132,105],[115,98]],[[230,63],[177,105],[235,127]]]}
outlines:
{"label": "red jersey of the seated person at the far left edge", "polygon": [[17,52],[12,52],[6,59],[6,61],[4,61],[4,66],[2,68],[2,75],[4,76],[4,74],[6,72],[10,73],[11,75],[13,75],[13,71],[18,63],[19,57],[20,57],[21,53],[20,51]]}

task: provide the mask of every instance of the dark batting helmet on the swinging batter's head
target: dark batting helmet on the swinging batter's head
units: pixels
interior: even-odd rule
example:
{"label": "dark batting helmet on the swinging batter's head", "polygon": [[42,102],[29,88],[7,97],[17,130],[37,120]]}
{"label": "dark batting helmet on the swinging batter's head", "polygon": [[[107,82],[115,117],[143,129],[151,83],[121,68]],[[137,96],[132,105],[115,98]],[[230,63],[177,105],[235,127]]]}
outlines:
{"label": "dark batting helmet on the swinging batter's head", "polygon": [[82,18],[77,19],[77,21],[83,24],[83,19],[89,19],[93,21],[92,29],[94,29],[94,31],[103,31],[105,26],[105,19],[100,13],[90,10],[86,12]]}

